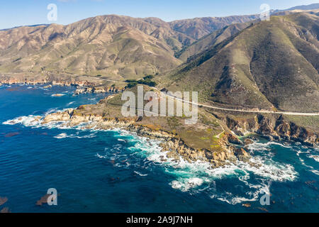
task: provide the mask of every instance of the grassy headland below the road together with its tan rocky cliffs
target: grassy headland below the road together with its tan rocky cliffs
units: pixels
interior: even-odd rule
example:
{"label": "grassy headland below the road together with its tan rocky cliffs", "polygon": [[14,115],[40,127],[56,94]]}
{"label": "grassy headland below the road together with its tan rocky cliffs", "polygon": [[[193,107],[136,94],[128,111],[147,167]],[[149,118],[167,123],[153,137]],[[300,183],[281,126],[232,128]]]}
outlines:
{"label": "grassy headland below the road together with its tan rocky cliffs", "polygon": [[[16,83],[16,81],[5,81]],[[37,81],[38,83],[38,81]],[[51,82],[57,84],[57,82]],[[51,85],[48,85],[51,86]],[[151,89],[150,87],[145,87]],[[78,87],[75,94],[88,92],[122,92],[118,87]],[[133,88],[133,92],[136,92]],[[177,117],[130,117],[121,115],[121,94],[113,94],[95,105],[83,105],[77,109],[47,114],[44,118],[35,118],[42,124],[63,121],[65,126],[84,128],[113,129],[122,128],[139,136],[161,140],[162,160],[172,159],[176,162],[182,158],[188,162],[209,162],[211,167],[220,167],[238,161],[249,162],[250,154],[244,145],[253,143],[239,136],[249,133],[269,140],[293,140],[304,145],[318,146],[318,134],[308,127],[290,121],[278,114],[245,114],[234,116],[220,112],[210,113],[200,109],[198,123],[186,126],[184,118]],[[316,119],[315,119],[316,120]],[[254,165],[252,163],[252,165]]]}

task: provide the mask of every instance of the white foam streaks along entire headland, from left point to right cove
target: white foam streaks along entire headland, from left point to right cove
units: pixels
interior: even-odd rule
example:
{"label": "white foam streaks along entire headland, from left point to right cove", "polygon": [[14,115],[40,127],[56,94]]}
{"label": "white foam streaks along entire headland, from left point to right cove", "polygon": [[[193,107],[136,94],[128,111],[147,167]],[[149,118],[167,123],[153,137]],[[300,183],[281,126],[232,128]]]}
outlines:
{"label": "white foam streaks along entire headland, from left point to right cove", "polygon": [[[15,118],[10,121],[4,122],[4,124],[15,124],[22,123],[25,126],[41,126],[46,128],[71,128],[67,126],[63,122],[51,122],[45,125],[40,124],[39,120],[40,116],[26,116]],[[41,118],[41,117],[40,117]],[[79,131],[88,130],[86,126],[89,123],[83,123],[79,126],[72,127]],[[98,129],[90,129],[90,131],[96,132],[101,131]],[[102,130],[103,131],[103,130]],[[132,133],[129,131],[121,130],[121,129],[113,129],[108,131],[118,131],[122,138],[118,138],[118,140],[135,140],[135,145],[129,148],[132,153],[130,155],[139,155],[140,157],[145,158],[144,162],[150,162],[152,165],[161,165],[165,172],[168,175],[172,175],[175,179],[172,182],[169,182],[173,189],[181,190],[181,192],[189,192],[196,193],[201,190],[212,190],[216,187],[216,183],[214,179],[223,179],[225,177],[236,177],[241,182],[244,182],[247,187],[250,188],[245,194],[212,194],[212,198],[217,198],[220,201],[225,201],[230,204],[237,204],[243,201],[255,201],[258,199],[259,193],[265,187],[264,180],[274,180],[279,182],[284,181],[293,181],[298,177],[298,172],[296,172],[292,165],[275,162],[272,158],[269,158],[269,155],[272,154],[270,152],[270,145],[281,145],[276,142],[269,143],[252,143],[248,146],[250,150],[258,150],[258,151],[266,151],[264,156],[262,155],[254,155],[251,159],[251,163],[248,162],[237,162],[237,164],[228,163],[224,167],[211,168],[211,164],[208,162],[187,162],[183,158],[180,158],[178,162],[169,159],[166,157],[167,152],[163,152],[162,148],[160,148],[159,143],[161,140],[150,140],[149,138],[143,138],[136,135],[136,133]],[[89,134],[85,136],[95,136],[95,134]],[[76,137],[80,138],[78,134],[76,135],[67,135],[66,133],[61,133],[55,138],[66,138],[66,137]],[[83,138],[83,137],[82,137]],[[125,141],[124,140],[124,141]],[[291,148],[290,146],[284,146],[285,148]],[[111,150],[111,151],[110,151]],[[99,158],[108,158],[110,160],[118,160],[116,162],[117,167],[128,167],[130,163],[125,159],[126,155],[121,156],[121,144],[115,145],[111,148],[110,151],[113,153],[113,156],[110,157],[110,154],[100,155],[96,154]],[[315,170],[313,170],[315,172]],[[136,174],[140,172],[135,172]],[[252,184],[249,182],[250,174],[257,175],[262,177],[263,180],[260,180]],[[142,174],[141,174],[142,176]]]}

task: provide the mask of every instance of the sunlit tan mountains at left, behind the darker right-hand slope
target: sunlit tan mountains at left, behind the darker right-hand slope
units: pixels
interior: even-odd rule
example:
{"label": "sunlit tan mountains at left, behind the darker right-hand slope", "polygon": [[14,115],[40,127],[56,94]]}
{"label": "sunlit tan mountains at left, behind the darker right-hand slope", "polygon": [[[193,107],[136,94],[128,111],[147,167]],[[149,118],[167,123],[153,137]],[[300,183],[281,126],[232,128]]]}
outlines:
{"label": "sunlit tan mountains at left, behind the darker right-hand slope", "polygon": [[108,15],[67,26],[6,29],[0,31],[0,72],[102,74],[108,79],[138,79],[180,65],[181,60],[174,55],[201,36],[189,32],[190,29],[203,29],[201,34],[206,34],[250,18],[254,17],[196,18],[195,23],[191,22],[193,19],[167,23],[159,18]]}

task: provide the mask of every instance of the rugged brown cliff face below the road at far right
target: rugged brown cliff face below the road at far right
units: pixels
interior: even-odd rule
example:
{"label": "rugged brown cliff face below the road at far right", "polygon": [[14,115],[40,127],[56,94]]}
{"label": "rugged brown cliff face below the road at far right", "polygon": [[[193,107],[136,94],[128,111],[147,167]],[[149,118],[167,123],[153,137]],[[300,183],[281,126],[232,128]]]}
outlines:
{"label": "rugged brown cliff face below the road at far right", "polygon": [[293,140],[305,145],[318,146],[318,134],[309,129],[298,126],[283,116],[266,117],[261,114],[245,120],[234,120],[226,117],[225,123],[236,135],[245,133],[257,133],[264,135],[270,140]]}

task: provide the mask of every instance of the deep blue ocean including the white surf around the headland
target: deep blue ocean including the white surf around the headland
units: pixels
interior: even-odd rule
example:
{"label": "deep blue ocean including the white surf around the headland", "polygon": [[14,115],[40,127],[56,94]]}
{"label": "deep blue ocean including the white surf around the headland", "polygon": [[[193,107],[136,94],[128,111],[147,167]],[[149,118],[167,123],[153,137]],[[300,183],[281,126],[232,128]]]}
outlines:
{"label": "deep blue ocean including the white surf around the headland", "polygon": [[[94,104],[106,94],[73,87],[0,87],[0,197],[12,212],[318,212],[319,153],[259,140],[257,167],[161,162],[157,141],[125,131],[41,126],[52,111]],[[65,94],[52,96],[52,94]],[[22,117],[22,118],[21,118]],[[13,120],[13,121],[11,121]],[[259,199],[269,185],[270,205]],[[57,206],[35,205],[47,189]],[[250,204],[242,206],[243,204]]]}

